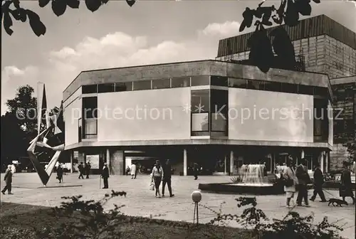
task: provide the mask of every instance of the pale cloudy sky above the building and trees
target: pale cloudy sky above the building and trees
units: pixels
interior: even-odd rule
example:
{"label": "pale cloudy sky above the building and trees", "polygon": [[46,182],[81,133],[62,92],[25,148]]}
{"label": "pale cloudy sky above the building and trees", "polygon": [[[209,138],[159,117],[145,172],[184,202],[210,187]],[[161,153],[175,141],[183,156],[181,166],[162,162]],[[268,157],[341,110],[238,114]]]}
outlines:
{"label": "pale cloudy sky above the building and trees", "polygon": [[[110,0],[92,13],[81,1],[57,17],[48,4],[21,1],[35,11],[47,27],[37,37],[28,22],[14,21],[14,33],[1,28],[1,115],[16,89],[46,84],[48,107],[61,104],[63,90],[83,70],[130,65],[214,59],[219,39],[236,36],[246,6],[261,1],[125,1]],[[265,5],[279,6],[267,0]],[[342,0],[312,1],[312,16],[325,14],[356,32],[356,3]],[[305,18],[305,17],[303,17]],[[253,28],[243,33],[253,31]]]}

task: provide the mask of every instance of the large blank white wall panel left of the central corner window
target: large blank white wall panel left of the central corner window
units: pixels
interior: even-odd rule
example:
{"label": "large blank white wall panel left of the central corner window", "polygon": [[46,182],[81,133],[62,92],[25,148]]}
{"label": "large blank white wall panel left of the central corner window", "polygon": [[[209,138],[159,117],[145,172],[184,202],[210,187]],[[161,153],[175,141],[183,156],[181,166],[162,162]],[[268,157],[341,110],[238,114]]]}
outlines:
{"label": "large blank white wall panel left of the central corner window", "polygon": [[189,87],[100,93],[98,141],[190,139],[185,105]]}

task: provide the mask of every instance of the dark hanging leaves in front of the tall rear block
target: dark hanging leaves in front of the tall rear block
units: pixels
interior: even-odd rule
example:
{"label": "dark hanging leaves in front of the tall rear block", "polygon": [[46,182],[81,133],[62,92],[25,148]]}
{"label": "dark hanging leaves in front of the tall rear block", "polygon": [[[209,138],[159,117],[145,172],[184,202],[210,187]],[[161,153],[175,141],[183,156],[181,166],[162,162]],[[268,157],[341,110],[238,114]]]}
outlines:
{"label": "dark hanging leaves in front of the tall rear block", "polygon": [[[316,4],[320,0],[313,0]],[[245,28],[250,28],[253,23],[253,18],[258,20],[254,23],[256,29],[251,38],[248,39],[248,47],[250,48],[249,61],[252,65],[267,73],[273,66],[273,62],[280,63],[281,68],[293,69],[295,68],[295,53],[293,44],[290,41],[288,33],[285,28],[278,27],[272,31],[273,43],[267,36],[266,28],[264,26],[272,26],[275,23],[281,25],[283,22],[286,26],[297,26],[299,23],[299,16],[310,16],[311,6],[310,0],[281,0],[281,5],[276,9],[273,6],[262,6],[258,4],[257,9],[246,8],[242,16],[242,21],[239,31],[244,31]],[[273,54],[276,53],[277,57]]]}

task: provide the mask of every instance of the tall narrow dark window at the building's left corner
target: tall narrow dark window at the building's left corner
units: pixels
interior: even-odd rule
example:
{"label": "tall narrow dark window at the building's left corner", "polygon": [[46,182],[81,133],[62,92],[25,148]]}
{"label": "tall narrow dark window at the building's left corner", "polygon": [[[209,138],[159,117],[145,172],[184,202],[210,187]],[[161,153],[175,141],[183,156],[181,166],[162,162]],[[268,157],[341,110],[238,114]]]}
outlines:
{"label": "tall narrow dark window at the building's left corner", "polygon": [[83,97],[83,139],[98,135],[98,97]]}

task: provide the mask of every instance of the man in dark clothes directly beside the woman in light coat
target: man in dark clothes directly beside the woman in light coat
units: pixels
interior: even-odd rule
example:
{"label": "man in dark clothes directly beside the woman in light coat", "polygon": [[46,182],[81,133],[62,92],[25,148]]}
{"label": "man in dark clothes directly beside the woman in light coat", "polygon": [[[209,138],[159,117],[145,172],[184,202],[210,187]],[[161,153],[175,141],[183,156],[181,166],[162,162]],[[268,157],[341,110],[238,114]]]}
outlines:
{"label": "man in dark clothes directly beside the woman in light coat", "polygon": [[308,202],[308,184],[310,183],[310,177],[308,174],[308,169],[305,166],[305,159],[300,160],[300,164],[297,166],[295,176],[298,178],[298,196],[297,196],[297,206],[302,206],[302,201],[306,207],[309,207]]}

